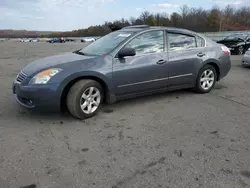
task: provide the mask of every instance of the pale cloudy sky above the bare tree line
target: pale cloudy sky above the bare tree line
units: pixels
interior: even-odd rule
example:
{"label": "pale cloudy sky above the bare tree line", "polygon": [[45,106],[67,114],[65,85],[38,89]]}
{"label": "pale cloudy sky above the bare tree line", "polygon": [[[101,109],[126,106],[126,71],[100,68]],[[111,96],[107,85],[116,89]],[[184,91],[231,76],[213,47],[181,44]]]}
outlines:
{"label": "pale cloudy sky above the bare tree line", "polygon": [[250,0],[0,0],[0,29],[69,31],[144,10],[171,13],[180,6],[250,5]]}

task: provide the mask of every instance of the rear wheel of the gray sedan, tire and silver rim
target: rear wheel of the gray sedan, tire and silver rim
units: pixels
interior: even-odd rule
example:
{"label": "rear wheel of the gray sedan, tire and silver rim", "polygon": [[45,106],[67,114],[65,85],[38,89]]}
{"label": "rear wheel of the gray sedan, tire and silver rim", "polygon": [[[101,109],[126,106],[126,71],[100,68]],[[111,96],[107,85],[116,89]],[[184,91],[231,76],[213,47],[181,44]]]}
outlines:
{"label": "rear wheel of the gray sedan, tire and silver rim", "polygon": [[[202,81],[202,79],[204,81]],[[216,80],[217,72],[215,68],[212,65],[205,65],[199,71],[194,89],[197,93],[208,93],[214,88]],[[204,84],[204,82],[206,84]]]}

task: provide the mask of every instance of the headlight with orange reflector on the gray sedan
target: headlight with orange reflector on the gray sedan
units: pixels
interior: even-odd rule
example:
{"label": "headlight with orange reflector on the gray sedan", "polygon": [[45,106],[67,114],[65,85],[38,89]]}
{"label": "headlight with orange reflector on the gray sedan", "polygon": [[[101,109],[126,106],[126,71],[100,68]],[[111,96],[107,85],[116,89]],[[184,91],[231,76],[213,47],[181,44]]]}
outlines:
{"label": "headlight with orange reflector on the gray sedan", "polygon": [[57,73],[61,72],[62,69],[52,68],[42,71],[35,75],[29,82],[29,84],[47,84],[47,82],[55,76]]}

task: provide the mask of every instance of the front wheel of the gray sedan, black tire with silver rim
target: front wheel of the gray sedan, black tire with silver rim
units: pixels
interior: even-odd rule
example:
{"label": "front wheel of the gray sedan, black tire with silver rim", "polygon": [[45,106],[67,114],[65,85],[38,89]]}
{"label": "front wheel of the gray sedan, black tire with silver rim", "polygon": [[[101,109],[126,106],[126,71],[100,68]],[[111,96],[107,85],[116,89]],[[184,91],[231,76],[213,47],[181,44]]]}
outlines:
{"label": "front wheel of the gray sedan, black tire with silver rim", "polygon": [[94,80],[86,79],[76,82],[67,95],[68,110],[74,117],[79,119],[87,119],[94,116],[100,109],[102,101],[103,88]]}

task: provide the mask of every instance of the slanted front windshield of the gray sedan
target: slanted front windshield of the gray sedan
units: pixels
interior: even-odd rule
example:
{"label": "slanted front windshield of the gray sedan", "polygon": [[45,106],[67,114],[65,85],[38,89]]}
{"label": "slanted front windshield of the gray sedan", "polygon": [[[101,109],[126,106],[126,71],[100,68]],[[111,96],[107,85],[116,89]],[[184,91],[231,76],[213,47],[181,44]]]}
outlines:
{"label": "slanted front windshield of the gray sedan", "polygon": [[111,52],[115,47],[133,34],[131,31],[115,31],[89,44],[79,52],[84,55],[103,55]]}

